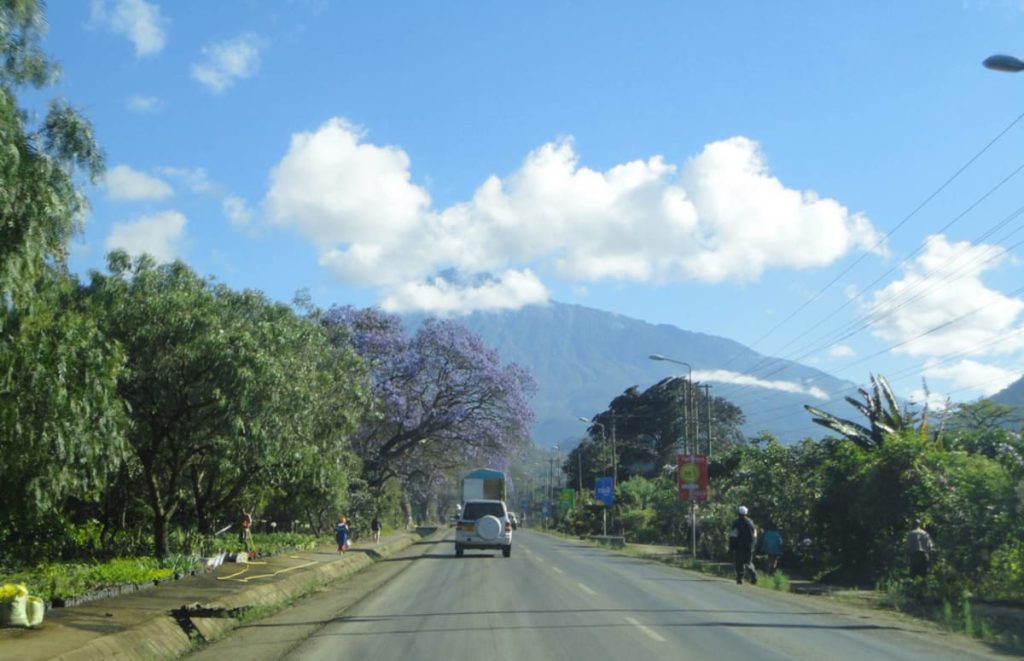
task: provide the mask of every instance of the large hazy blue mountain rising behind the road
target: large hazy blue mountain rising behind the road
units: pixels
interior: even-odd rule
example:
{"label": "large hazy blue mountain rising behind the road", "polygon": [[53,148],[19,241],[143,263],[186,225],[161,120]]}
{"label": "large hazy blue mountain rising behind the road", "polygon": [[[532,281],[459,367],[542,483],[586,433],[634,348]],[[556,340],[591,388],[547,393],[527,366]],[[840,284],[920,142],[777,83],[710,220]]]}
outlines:
{"label": "large hazy blue mountain rising behind the road", "polygon": [[[415,322],[415,317],[410,317]],[[506,362],[529,369],[539,392],[534,399],[535,442],[550,447],[578,440],[591,417],[631,386],[645,389],[660,379],[685,373],[685,367],[648,359],[652,353],[684,360],[698,369],[751,370],[765,359],[743,345],[711,335],[652,324],[580,305],[551,303],[515,311],[477,312],[459,319],[494,347]],[[763,367],[761,373],[765,372]],[[771,381],[799,382],[830,396],[815,399],[758,387],[712,385],[712,396],[725,396],[743,409],[748,435],[767,430],[785,443],[820,438],[824,428],[811,422],[804,404],[841,416],[856,411],[843,400],[855,385],[819,369],[779,361],[768,370]],[[699,379],[698,379],[699,381]]]}

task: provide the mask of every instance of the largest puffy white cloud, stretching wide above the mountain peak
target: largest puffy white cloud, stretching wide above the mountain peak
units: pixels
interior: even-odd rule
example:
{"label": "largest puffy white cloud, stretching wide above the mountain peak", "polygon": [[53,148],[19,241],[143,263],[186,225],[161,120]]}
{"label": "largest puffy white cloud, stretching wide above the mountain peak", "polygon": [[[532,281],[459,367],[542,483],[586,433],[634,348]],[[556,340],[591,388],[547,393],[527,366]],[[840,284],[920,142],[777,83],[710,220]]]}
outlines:
{"label": "largest puffy white cloud, stretching wide above the mountain peak", "polygon": [[445,268],[529,268],[573,283],[749,281],[882,251],[866,218],[786,188],[742,137],[709,144],[682,169],[652,157],[603,172],[580,165],[570,140],[552,142],[469,200],[435,209],[403,150],[367,142],[336,118],[293,136],[265,205],[336,277],[385,294],[422,288]]}

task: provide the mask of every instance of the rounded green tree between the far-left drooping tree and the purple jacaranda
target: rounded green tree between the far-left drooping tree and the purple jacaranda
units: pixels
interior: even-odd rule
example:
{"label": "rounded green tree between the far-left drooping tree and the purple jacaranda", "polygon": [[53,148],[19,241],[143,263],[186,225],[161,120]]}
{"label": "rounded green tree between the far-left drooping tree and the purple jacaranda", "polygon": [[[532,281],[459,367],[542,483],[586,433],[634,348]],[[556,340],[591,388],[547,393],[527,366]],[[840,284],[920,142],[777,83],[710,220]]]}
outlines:
{"label": "rounded green tree between the far-left drooping tree and the purple jacaranda", "polygon": [[[236,293],[180,262],[109,257],[90,293],[127,352],[119,392],[154,521],[155,549],[191,506],[211,531],[247,490],[279,488],[310,461],[339,461],[361,408],[354,355],[262,295]],[[323,353],[323,355],[322,355]],[[356,395],[353,396],[353,393]]]}

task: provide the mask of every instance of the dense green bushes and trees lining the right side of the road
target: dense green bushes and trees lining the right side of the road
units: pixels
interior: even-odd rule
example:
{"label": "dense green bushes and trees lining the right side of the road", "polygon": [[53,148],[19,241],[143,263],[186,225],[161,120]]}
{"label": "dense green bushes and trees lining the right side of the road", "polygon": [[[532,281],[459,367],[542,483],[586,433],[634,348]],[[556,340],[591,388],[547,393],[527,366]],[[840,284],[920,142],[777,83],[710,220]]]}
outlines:
{"label": "dense green bushes and trees lining the right side of the road", "polygon": [[[900,410],[884,378],[871,381],[861,400],[850,401],[861,417],[841,420],[809,407],[833,436],[784,445],[765,434],[716,452],[709,467],[711,498],[697,509],[696,562],[687,558],[689,505],[679,502],[675,468],[666,460],[629,470],[621,454],[627,471],[620,468],[609,534],[684,548],[673,562],[728,574],[728,530],[736,506],[744,504],[759,528],[776,526],[785,539],[782,574],[772,587],[787,589],[794,576],[860,587],[872,591],[874,605],[1019,646],[1021,620],[996,608],[1024,612],[1024,440],[1015,410],[980,401],[930,421]],[[622,410],[620,403],[595,420]],[[649,443],[648,454],[664,457],[657,438],[646,430],[618,442],[634,454],[642,454],[636,444]],[[592,434],[581,447],[593,440]],[[570,454],[563,467],[567,484],[578,484],[579,466]],[[575,535],[598,534],[602,512],[593,485],[600,473],[583,466],[584,491],[555,525]],[[608,475],[609,466],[598,470]],[[918,518],[938,552],[928,579],[913,581],[903,544]]]}

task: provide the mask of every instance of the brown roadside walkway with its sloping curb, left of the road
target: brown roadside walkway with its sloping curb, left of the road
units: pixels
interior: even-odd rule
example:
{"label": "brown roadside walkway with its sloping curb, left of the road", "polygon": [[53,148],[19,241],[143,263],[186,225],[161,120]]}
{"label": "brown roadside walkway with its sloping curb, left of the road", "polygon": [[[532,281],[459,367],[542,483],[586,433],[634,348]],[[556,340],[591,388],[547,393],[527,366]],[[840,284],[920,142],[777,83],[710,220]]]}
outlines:
{"label": "brown roadside walkway with its sloping curb, left of the road", "polygon": [[343,555],[323,545],[247,564],[225,564],[214,572],[146,590],[54,609],[38,628],[3,630],[0,657],[176,659],[197,644],[346,579],[432,532],[396,533],[379,545],[357,543]]}

